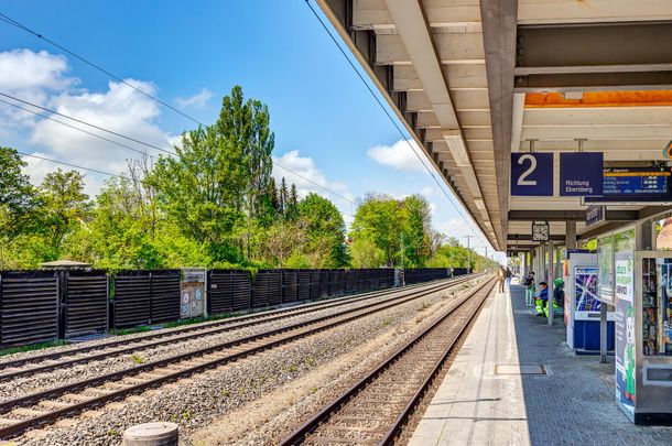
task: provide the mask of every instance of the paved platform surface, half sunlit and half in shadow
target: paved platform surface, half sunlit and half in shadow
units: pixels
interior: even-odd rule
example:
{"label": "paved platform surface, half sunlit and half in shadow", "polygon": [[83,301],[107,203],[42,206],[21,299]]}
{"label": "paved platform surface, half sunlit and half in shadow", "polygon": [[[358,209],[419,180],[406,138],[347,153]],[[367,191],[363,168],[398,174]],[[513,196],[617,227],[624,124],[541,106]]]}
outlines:
{"label": "paved platform surface, half sunlit and half in shadow", "polygon": [[672,427],[626,418],[614,365],[575,356],[555,320],[532,316],[520,285],[491,297],[410,444],[672,445]]}

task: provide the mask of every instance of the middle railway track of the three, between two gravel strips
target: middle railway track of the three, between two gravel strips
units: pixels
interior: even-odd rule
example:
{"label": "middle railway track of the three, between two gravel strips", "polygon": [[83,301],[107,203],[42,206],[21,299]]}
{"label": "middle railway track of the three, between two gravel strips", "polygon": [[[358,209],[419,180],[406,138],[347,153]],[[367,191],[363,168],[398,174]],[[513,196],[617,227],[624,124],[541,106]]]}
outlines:
{"label": "middle railway track of the three, between two gravel strips", "polygon": [[0,438],[40,424],[139,393],[193,373],[324,331],[348,322],[413,302],[476,278],[456,279],[429,287],[392,293],[394,296],[355,309],[343,309],[261,334],[236,338],[132,368],[88,378],[65,385],[0,402]]}

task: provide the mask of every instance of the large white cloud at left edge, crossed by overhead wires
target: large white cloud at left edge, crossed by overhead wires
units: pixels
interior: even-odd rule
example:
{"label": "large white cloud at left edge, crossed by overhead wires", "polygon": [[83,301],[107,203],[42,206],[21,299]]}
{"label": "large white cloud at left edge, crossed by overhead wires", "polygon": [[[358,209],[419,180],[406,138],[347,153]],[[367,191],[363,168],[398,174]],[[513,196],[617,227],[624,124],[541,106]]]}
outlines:
{"label": "large white cloud at left edge, crossed by overhead wires", "polygon": [[[172,149],[171,142],[175,140],[175,135],[169,134],[159,127],[156,121],[161,110],[155,101],[123,83],[110,81],[107,90],[104,91],[74,88],[79,84],[79,79],[68,77],[68,61],[65,57],[45,51],[13,50],[3,52],[0,53],[0,91],[9,91],[9,94],[20,99],[54,109],[139,141],[166,150]],[[126,81],[150,95],[155,94],[155,87],[151,83],[134,79],[126,79]],[[13,102],[4,97],[1,98]],[[113,174],[126,172],[127,160],[140,156],[139,153],[129,149],[57,122],[44,120],[8,105],[0,106],[0,127],[2,128],[3,139],[23,141],[17,146],[21,152]],[[22,107],[32,109],[30,106],[22,105]],[[153,155],[158,153],[155,149],[115,137],[66,118],[53,118],[104,138],[119,141],[140,151],[148,151]],[[58,168],[58,164],[45,160],[25,157],[25,161],[29,164],[25,173],[31,176],[34,184],[40,184],[46,173]],[[71,168],[67,166],[61,167]],[[86,192],[91,196],[96,195],[105,176],[86,171],[82,173],[86,176]]]}

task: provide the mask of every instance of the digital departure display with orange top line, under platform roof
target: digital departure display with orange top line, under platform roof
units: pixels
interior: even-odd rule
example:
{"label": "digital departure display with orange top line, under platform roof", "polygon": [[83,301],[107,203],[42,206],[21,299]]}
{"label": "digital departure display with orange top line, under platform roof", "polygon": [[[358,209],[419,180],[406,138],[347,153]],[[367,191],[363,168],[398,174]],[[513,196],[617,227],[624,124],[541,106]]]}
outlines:
{"label": "digital departure display with orange top line, under platform roof", "polygon": [[585,203],[670,200],[672,200],[670,167],[605,168],[603,195],[585,198]]}

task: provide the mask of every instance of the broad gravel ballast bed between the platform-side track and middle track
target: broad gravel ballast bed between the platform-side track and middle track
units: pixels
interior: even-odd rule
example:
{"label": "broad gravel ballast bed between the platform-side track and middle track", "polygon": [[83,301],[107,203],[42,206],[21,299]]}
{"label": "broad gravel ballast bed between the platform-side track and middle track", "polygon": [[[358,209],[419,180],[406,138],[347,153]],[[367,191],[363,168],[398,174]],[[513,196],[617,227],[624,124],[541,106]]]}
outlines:
{"label": "broad gravel ballast bed between the platform-side track and middle track", "polygon": [[[280,409],[277,411],[279,415],[260,420],[261,426],[254,425],[254,428],[245,431],[247,435],[236,438],[239,444],[269,443],[274,435],[291,429],[301,414],[310,413],[313,406],[333,398],[338,387],[343,387],[343,382],[350,382],[353,377],[372,367],[421,326],[437,317],[441,306],[453,301],[452,291],[462,293],[466,287],[456,285],[454,289],[433,293],[290,345],[163,385],[140,396],[107,404],[96,413],[85,413],[76,417],[78,423],[75,426],[52,425],[29,432],[18,440],[29,445],[116,445],[120,444],[123,429],[130,425],[170,421],[180,424],[182,444],[204,444],[199,442],[220,437],[216,432],[200,431],[204,426],[213,423],[218,425],[227,415],[238,413],[254,402],[268,403],[269,396],[275,395],[273,398],[278,401],[274,406]],[[268,329],[268,325],[264,325],[263,329]],[[237,331],[236,337],[238,336],[241,336],[240,331]],[[366,355],[359,358],[357,351],[361,349]],[[167,350],[171,355],[175,353],[174,347]],[[166,352],[156,352],[162,353]],[[347,355],[355,355],[358,359],[355,362],[351,359],[350,362],[344,362],[345,368],[340,370],[338,362]],[[282,391],[278,395],[282,389],[301,388],[305,377],[319,373],[323,378],[325,373],[332,377],[333,373],[325,372],[324,368],[337,371],[336,377],[328,382],[322,381],[322,385],[310,387],[306,394],[288,396],[290,393]],[[106,371],[109,371],[109,368]],[[72,369],[69,372],[72,373]],[[269,416],[272,412],[269,412]]]}

